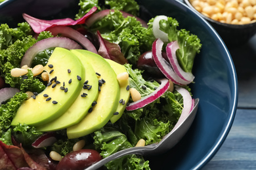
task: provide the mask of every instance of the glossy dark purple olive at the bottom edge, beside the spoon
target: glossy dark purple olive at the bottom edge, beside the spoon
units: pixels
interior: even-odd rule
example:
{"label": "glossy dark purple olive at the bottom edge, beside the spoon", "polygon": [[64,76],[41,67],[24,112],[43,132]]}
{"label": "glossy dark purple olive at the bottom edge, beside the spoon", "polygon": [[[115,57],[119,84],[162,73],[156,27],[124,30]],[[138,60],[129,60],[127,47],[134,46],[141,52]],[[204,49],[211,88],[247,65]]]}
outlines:
{"label": "glossy dark purple olive at the bottom edge, beside the spoon", "polygon": [[82,149],[66,154],[58,163],[56,170],[83,170],[102,158],[96,150]]}

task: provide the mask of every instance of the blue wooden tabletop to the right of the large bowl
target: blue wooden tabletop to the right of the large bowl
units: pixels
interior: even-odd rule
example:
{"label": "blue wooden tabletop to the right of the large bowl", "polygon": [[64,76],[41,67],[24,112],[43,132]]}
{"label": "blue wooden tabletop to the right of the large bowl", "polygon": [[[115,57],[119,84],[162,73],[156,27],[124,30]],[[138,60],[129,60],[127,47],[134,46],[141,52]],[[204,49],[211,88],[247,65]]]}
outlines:
{"label": "blue wooden tabletop to the right of the large bowl", "polygon": [[203,170],[256,169],[256,35],[228,50],[238,75],[238,109],[228,137]]}

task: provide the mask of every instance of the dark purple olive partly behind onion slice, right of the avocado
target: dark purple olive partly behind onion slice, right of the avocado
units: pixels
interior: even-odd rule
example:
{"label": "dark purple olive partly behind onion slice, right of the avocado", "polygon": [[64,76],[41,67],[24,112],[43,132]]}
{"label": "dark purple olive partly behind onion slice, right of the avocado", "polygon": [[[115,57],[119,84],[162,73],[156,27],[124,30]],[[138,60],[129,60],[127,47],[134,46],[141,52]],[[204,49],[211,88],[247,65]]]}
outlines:
{"label": "dark purple olive partly behind onion slice, right of the avocado", "polygon": [[[167,59],[165,53],[163,53],[162,55],[163,58]],[[144,52],[140,55],[140,58],[137,62],[137,67],[139,69],[145,70],[151,76],[164,77],[163,73],[161,73],[160,69],[158,69],[158,66],[156,65],[152,57],[152,51]]]}

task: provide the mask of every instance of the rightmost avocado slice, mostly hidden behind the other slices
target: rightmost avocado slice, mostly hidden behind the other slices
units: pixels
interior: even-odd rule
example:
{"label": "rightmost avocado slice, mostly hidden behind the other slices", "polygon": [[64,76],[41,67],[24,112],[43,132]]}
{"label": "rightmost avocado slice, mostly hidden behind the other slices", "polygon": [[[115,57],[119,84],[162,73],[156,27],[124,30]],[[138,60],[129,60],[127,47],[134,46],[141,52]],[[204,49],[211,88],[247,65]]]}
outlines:
{"label": "rightmost avocado slice, mostly hidden behind the other slices", "polygon": [[[108,63],[110,63],[110,66],[112,69],[114,69],[116,75],[119,75],[120,73],[127,73],[127,70],[125,67],[111,59],[106,59]],[[130,98],[130,90],[127,88],[129,86],[129,79],[125,80],[125,82],[122,82],[121,84],[119,83],[119,88],[120,88],[120,96],[119,96],[119,104],[116,109],[116,114],[110,118],[110,121],[112,124],[114,124],[121,116],[123,115],[123,111],[126,108],[127,102],[129,101]],[[118,114],[117,114],[118,113]]]}

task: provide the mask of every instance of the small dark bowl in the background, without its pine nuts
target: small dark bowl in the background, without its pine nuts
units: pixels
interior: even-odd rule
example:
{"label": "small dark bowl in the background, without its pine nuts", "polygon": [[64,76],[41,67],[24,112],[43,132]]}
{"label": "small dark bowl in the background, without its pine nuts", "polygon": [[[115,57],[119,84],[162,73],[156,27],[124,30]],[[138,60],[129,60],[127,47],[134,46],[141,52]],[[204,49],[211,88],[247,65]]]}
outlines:
{"label": "small dark bowl in the background, without its pine nuts", "polygon": [[202,16],[209,24],[213,26],[213,28],[219,33],[226,46],[230,48],[235,48],[236,46],[241,46],[245,44],[253,35],[256,33],[256,22],[251,24],[226,24],[223,22],[218,22],[217,20],[213,20],[201,12],[198,12],[190,3],[189,0],[184,0],[184,3],[190,7],[190,9],[194,10],[197,14]]}

